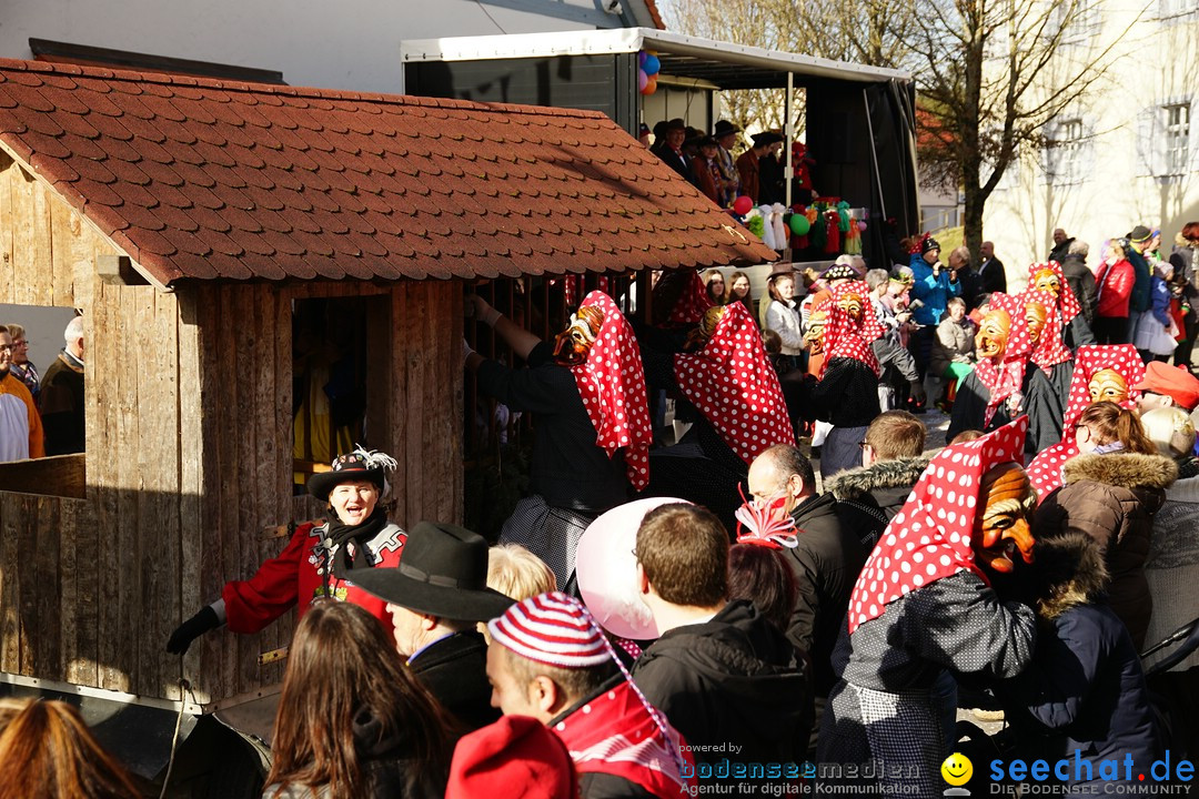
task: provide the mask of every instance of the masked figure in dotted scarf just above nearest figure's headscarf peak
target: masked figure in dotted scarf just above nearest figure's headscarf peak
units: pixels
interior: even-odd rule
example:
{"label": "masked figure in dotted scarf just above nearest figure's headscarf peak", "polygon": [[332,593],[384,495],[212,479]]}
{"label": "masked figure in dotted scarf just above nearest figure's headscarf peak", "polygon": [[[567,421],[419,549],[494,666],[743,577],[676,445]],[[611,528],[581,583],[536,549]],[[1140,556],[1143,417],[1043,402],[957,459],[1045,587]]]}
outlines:
{"label": "masked figure in dotted scarf just above nearest figure's headscarf peak", "polygon": [[1024,447],[1030,459],[1061,441],[1061,402],[1044,373],[1029,363],[1032,343],[1020,297],[990,296],[975,346],[978,364],[958,388],[945,438],[953,441],[964,430],[989,432],[1028,416]]}

